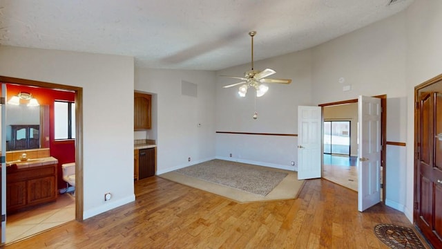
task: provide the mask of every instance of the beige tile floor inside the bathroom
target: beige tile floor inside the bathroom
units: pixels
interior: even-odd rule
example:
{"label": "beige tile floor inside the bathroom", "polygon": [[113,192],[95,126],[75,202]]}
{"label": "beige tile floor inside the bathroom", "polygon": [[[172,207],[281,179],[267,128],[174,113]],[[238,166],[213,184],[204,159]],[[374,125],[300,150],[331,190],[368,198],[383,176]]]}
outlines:
{"label": "beige tile floor inside the bathroom", "polygon": [[17,241],[75,219],[75,197],[59,194],[57,201],[6,218],[6,243]]}

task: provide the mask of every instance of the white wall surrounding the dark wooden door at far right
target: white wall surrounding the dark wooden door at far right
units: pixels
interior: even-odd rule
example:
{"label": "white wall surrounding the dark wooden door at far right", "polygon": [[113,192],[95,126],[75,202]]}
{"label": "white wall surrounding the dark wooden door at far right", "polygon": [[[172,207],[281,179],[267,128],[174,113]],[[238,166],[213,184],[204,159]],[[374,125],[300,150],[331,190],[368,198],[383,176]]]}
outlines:
{"label": "white wall surrounding the dark wooden door at far right", "polygon": [[407,201],[405,214],[413,216],[414,86],[442,73],[442,1],[414,1],[406,10],[407,25]]}

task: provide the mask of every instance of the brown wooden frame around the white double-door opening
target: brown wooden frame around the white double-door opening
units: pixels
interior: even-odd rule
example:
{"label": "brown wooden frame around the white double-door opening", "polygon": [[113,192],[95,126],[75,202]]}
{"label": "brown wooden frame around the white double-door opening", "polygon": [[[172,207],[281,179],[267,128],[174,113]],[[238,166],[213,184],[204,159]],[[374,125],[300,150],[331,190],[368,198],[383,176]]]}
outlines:
{"label": "brown wooden frame around the white double-door opening", "polygon": [[[382,108],[382,115],[381,115],[381,142],[382,142],[382,151],[381,151],[381,163],[383,166],[382,171],[382,202],[385,203],[385,195],[386,195],[386,189],[387,185],[385,184],[385,172],[387,172],[387,95],[376,95],[372,96],[374,98],[380,98],[381,99],[381,108]],[[357,103],[358,99],[353,100],[343,100],[343,101],[337,101],[337,102],[329,102],[324,104],[318,104],[318,107],[321,107],[322,113],[324,113],[324,107],[330,107],[335,106],[339,104],[352,104]],[[324,115],[322,116],[322,122],[324,122]],[[324,141],[323,141],[324,143]],[[324,146],[324,145],[323,145]],[[323,148],[322,148],[323,150]],[[324,151],[322,151],[324,154]],[[321,165],[324,165],[324,159],[321,156]]]}

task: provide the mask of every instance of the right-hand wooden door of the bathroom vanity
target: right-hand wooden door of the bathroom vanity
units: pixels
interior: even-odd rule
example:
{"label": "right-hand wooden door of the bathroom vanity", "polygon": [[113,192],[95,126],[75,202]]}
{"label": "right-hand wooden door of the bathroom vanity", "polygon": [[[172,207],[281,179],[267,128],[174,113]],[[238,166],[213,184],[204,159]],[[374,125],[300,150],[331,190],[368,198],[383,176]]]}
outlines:
{"label": "right-hand wooden door of the bathroom vanity", "polygon": [[55,177],[46,176],[28,180],[28,204],[42,203],[55,199]]}

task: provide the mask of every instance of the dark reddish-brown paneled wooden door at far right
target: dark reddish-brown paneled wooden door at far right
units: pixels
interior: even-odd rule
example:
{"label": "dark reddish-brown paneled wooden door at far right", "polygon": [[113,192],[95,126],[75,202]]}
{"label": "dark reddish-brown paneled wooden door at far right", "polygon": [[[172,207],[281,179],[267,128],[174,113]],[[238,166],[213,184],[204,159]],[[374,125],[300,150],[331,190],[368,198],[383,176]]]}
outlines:
{"label": "dark reddish-brown paneled wooden door at far right", "polygon": [[414,223],[442,248],[442,75],[415,89]]}

